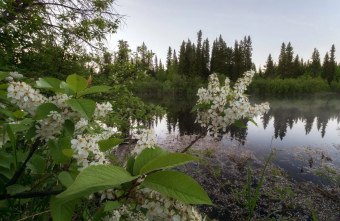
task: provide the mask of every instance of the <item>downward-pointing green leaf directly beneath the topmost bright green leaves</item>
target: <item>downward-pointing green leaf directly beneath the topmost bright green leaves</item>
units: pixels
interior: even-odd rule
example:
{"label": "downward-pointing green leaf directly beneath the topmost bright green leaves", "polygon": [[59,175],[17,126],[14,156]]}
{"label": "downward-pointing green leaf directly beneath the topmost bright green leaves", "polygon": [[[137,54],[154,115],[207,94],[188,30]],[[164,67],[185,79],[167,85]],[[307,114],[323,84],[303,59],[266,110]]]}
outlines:
{"label": "downward-pointing green leaf directly beneath the topmost bright green leaves", "polygon": [[89,99],[70,99],[66,103],[70,105],[72,110],[78,111],[81,115],[91,119],[92,115],[96,109],[96,103]]}

